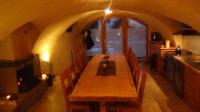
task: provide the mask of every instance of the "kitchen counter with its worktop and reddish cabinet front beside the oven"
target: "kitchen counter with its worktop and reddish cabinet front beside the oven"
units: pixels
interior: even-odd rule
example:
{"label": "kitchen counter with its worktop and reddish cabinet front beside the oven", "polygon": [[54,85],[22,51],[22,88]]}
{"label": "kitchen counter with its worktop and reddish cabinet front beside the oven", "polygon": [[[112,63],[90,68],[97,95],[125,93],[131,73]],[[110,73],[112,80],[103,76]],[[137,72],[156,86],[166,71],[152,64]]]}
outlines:
{"label": "kitchen counter with its worktop and reddish cabinet front beside the oven", "polygon": [[[200,62],[191,54],[174,56],[176,63],[174,72],[175,90],[180,90],[183,99],[200,112]],[[179,63],[179,64],[177,64]],[[180,66],[179,66],[180,65]],[[177,70],[179,69],[179,70]],[[183,89],[182,89],[183,88]],[[177,91],[176,90],[176,91]],[[178,93],[179,91],[177,91]]]}

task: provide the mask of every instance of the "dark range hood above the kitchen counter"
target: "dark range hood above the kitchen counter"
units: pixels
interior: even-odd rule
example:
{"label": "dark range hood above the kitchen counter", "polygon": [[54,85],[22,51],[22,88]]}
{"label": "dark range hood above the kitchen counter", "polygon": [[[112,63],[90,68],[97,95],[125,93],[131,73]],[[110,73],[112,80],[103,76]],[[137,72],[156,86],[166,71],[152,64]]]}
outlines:
{"label": "dark range hood above the kitchen counter", "polygon": [[188,26],[184,23],[181,25],[181,29],[174,32],[174,35],[200,35],[200,33],[194,30],[191,26]]}

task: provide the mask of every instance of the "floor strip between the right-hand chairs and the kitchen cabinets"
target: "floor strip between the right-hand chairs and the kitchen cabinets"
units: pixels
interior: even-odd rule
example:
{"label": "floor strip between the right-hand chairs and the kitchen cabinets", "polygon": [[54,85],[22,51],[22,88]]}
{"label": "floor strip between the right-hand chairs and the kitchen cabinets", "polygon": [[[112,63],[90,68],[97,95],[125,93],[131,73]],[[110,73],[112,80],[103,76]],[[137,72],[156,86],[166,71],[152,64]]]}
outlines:
{"label": "floor strip between the right-hand chairs and the kitchen cabinets", "polygon": [[176,96],[165,77],[151,73],[146,81],[143,112],[195,112],[184,100]]}

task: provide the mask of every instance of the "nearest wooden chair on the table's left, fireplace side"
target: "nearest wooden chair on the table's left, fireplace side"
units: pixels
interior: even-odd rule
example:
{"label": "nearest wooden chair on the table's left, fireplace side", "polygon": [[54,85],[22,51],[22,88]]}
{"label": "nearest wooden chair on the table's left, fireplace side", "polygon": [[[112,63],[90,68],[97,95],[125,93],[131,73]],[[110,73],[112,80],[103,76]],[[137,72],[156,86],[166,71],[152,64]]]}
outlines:
{"label": "nearest wooden chair on the table's left, fireplace side", "polygon": [[73,86],[67,71],[61,74],[60,80],[66,102],[66,112],[90,112],[90,106],[87,103],[69,101],[69,95],[73,91]]}

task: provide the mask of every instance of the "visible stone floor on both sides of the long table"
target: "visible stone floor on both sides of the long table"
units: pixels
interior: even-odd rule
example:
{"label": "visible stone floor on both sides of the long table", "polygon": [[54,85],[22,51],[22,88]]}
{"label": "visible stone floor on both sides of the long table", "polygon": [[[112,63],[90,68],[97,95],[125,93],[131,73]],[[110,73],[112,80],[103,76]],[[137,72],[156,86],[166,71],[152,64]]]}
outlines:
{"label": "visible stone floor on both sides of the long table", "polygon": [[[58,79],[57,77],[54,86],[28,112],[65,112]],[[149,72],[146,81],[143,112],[195,112],[175,95],[172,85],[164,77]]]}

